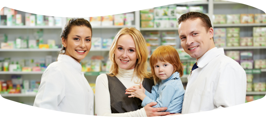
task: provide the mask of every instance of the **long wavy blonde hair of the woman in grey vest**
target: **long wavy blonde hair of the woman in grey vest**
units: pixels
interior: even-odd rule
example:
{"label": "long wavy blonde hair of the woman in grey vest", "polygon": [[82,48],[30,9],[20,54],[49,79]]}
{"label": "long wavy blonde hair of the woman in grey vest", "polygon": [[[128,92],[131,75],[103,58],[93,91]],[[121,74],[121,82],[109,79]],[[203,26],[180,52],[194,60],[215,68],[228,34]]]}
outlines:
{"label": "long wavy blonde hair of the woman in grey vest", "polygon": [[[109,51],[109,59],[111,61],[109,76],[115,76],[118,73],[118,65],[115,62],[115,49],[117,49],[117,40],[122,35],[130,35],[132,36],[135,46],[136,46],[136,54],[137,54],[137,61],[134,69],[134,74],[138,75],[138,82],[140,83],[144,78],[150,78],[150,73],[147,71],[148,66],[148,48],[146,44],[146,40],[142,36],[141,32],[139,32],[134,27],[124,27],[120,31],[117,32],[115,36],[111,49]],[[135,82],[136,83],[136,82]]]}

